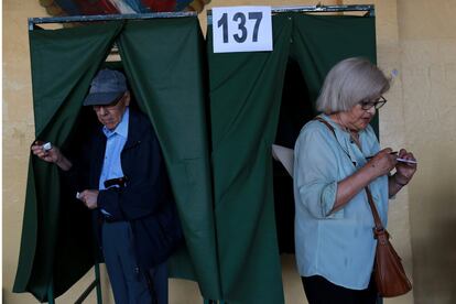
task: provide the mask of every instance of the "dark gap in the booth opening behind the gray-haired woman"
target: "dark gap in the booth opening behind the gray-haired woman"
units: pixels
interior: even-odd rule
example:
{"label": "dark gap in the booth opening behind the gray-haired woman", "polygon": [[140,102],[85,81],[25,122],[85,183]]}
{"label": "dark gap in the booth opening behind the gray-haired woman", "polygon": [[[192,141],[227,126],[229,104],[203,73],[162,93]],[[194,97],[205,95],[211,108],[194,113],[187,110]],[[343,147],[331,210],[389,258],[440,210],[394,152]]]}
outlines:
{"label": "dark gap in the booth opening behind the gray-haired woman", "polygon": [[[316,115],[298,63],[289,57],[274,144],[294,149],[302,127]],[[293,178],[273,160],[274,210],[280,253],[294,253]]]}

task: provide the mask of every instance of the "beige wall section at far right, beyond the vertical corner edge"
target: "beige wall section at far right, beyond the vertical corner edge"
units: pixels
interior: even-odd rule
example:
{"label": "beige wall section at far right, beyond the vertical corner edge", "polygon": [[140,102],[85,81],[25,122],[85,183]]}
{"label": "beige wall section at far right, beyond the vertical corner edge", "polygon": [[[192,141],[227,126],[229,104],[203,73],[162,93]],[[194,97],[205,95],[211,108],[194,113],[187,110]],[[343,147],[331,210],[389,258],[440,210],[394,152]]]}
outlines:
{"label": "beige wall section at far right, beyond the vertical corner edge", "polygon": [[416,303],[456,303],[456,1],[398,1]]}

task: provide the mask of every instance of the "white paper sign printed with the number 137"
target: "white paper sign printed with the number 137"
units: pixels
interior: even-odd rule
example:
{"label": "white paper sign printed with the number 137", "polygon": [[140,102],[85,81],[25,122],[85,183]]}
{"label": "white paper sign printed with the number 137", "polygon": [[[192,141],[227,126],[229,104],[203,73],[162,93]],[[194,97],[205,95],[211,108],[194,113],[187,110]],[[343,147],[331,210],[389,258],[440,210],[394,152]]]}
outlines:
{"label": "white paper sign printed with the number 137", "polygon": [[272,51],[271,7],[213,8],[214,53]]}

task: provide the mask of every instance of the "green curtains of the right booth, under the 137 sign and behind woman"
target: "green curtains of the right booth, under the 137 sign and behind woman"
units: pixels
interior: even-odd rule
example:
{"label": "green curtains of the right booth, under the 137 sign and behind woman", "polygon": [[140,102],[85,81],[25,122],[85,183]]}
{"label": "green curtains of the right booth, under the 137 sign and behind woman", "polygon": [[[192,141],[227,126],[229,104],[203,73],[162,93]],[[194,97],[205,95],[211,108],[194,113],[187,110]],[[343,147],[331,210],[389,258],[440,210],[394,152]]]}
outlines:
{"label": "green curtains of the right booth, under the 137 sign and behind woman", "polygon": [[374,61],[373,18],[278,14],[273,52],[213,53],[207,48],[215,216],[224,300],[283,303],[273,206],[271,144],[275,139],[289,56],[314,102],[339,59]]}

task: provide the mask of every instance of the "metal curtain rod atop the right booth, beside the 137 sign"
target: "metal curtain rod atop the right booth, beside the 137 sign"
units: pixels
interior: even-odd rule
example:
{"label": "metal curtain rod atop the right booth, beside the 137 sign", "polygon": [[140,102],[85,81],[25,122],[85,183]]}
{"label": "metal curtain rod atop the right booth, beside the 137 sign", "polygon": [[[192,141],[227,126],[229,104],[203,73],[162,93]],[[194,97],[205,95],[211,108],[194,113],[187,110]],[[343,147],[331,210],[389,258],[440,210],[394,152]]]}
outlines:
{"label": "metal curtain rod atop the right booth, beside the 137 sign", "polygon": [[[368,17],[376,15],[373,4],[351,4],[351,6],[298,6],[298,7],[272,7],[271,13],[290,13],[290,12],[356,12],[366,11]],[[213,24],[213,11],[207,10],[207,24]]]}

